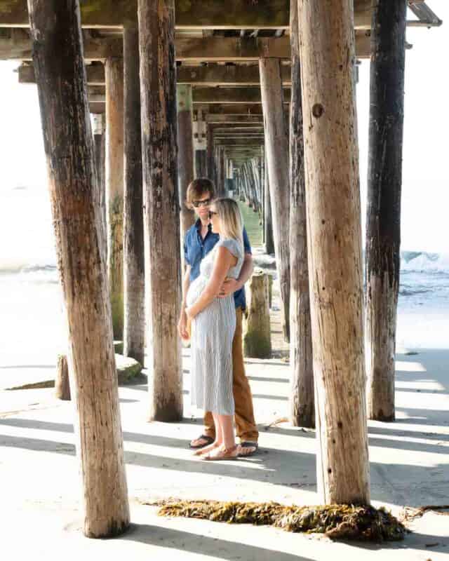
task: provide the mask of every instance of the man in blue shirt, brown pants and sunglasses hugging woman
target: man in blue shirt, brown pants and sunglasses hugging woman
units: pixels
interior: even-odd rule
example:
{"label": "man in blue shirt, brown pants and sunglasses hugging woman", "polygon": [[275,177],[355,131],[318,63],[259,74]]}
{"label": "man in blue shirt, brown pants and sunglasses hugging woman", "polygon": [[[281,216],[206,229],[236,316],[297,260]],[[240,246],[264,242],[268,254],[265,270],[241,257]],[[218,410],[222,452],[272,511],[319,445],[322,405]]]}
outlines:
{"label": "man in blue shirt, brown pants and sunglasses hugging woman", "polygon": [[[219,236],[213,234],[209,221],[209,207],[215,197],[213,182],[206,178],[192,181],[187,188],[186,205],[194,208],[198,219],[189,228],[185,235],[184,257],[185,274],[182,280],[182,307],[181,316],[177,325],[178,332],[183,338],[187,338],[187,316],[185,313],[186,296],[190,283],[199,276],[201,260],[213,249]],[[219,297],[227,297],[234,293],[236,304],[236,331],[232,342],[232,369],[233,369],[233,393],[235,403],[236,434],[240,439],[239,454],[248,456],[257,450],[259,433],[255,426],[253,396],[245,373],[243,363],[242,346],[242,317],[246,308],[245,289],[243,285],[253,273],[253,256],[248,240],[248,234],[243,229],[243,244],[245,246],[245,259],[238,279],[229,278],[225,280],[220,290]],[[190,442],[192,448],[203,448],[215,440],[215,426],[210,412],[204,414],[204,433]]]}

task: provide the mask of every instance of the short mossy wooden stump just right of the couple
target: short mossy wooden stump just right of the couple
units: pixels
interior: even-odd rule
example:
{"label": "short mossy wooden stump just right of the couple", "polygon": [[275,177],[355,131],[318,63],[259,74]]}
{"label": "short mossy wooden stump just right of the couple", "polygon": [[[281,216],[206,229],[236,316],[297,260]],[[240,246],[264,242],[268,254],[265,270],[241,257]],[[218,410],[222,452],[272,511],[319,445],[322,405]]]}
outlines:
{"label": "short mossy wooden stump just right of the couple", "polygon": [[248,316],[243,333],[243,353],[253,358],[272,355],[269,323],[268,275],[256,269],[248,283]]}

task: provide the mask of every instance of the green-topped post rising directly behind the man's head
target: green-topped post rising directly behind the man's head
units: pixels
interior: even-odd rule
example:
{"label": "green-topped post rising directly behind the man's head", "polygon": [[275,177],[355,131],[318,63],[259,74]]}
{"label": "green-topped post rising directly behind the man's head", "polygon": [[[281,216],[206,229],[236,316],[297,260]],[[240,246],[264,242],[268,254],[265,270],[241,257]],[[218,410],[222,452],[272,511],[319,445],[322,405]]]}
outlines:
{"label": "green-topped post rising directly behind the man's head", "polygon": [[179,173],[179,192],[181,207],[181,236],[184,238],[187,230],[195,222],[193,210],[185,205],[187,187],[194,180],[194,137],[192,131],[192,86],[179,84],[177,86],[177,169]]}

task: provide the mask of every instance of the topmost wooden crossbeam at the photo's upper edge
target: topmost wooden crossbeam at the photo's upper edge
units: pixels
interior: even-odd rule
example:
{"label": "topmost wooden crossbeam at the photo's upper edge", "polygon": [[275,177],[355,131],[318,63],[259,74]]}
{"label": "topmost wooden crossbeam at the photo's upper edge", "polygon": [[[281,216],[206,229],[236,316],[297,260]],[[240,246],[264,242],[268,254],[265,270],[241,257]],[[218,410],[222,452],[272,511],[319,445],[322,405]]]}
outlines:
{"label": "topmost wooden crossbeam at the photo's upper edge", "polygon": [[[289,0],[205,2],[176,0],[176,29],[288,29]],[[137,10],[136,0],[90,0],[81,4],[83,27],[123,27]],[[370,29],[370,0],[354,0],[354,25]],[[28,27],[27,0],[6,0],[0,27]]]}

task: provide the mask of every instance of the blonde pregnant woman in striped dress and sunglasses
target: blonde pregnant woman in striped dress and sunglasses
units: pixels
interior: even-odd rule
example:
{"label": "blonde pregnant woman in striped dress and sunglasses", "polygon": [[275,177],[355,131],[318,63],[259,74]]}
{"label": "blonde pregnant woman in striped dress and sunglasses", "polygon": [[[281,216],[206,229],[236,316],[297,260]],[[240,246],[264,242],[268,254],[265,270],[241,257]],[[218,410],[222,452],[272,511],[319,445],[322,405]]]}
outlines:
{"label": "blonde pregnant woman in striped dress and sunglasses", "polygon": [[201,262],[200,275],[187,292],[192,322],[192,405],[212,412],[215,441],[195,455],[206,460],[235,459],[232,339],[236,328],[233,295],[218,298],[227,277],[238,278],[243,264],[243,220],[236,201],[219,198],[210,205],[210,222],[220,241]]}

